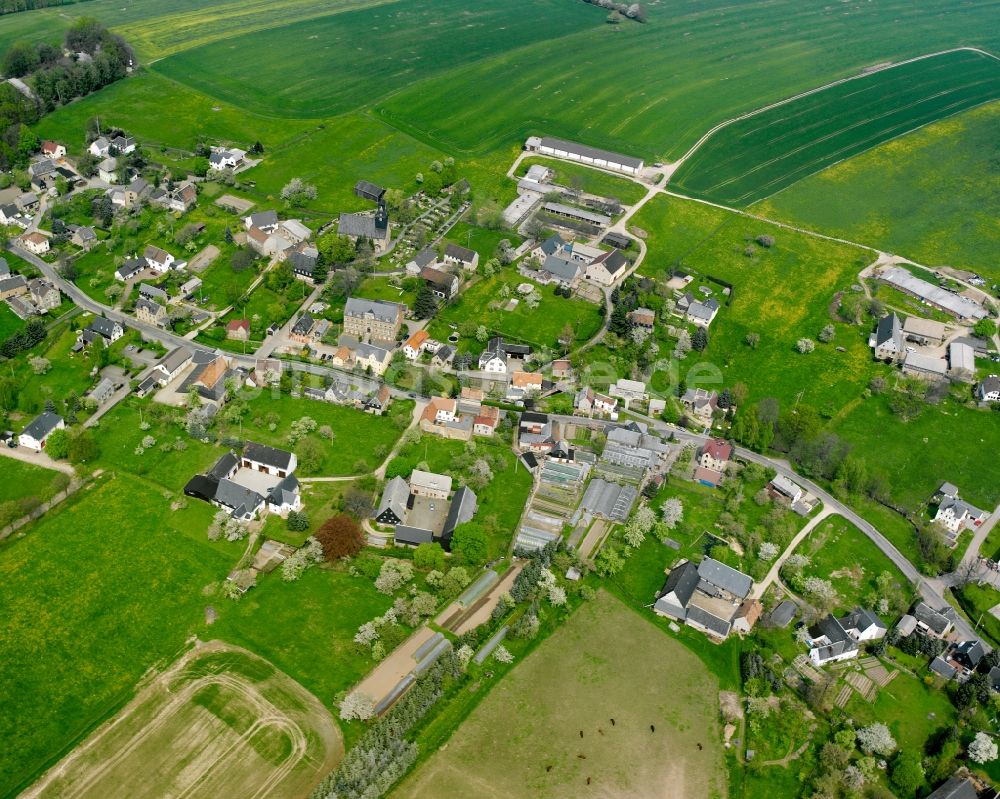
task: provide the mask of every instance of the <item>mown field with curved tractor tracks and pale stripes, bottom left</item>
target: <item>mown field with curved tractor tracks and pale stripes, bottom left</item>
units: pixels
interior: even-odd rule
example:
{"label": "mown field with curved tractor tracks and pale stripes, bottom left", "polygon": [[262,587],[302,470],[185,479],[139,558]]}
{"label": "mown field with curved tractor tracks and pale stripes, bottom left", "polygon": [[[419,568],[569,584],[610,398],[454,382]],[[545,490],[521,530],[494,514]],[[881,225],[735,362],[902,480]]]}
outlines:
{"label": "mown field with curved tractor tracks and pale stripes, bottom left", "polygon": [[330,712],[245,650],[212,642],[146,685],[25,797],[304,796],[343,755]]}

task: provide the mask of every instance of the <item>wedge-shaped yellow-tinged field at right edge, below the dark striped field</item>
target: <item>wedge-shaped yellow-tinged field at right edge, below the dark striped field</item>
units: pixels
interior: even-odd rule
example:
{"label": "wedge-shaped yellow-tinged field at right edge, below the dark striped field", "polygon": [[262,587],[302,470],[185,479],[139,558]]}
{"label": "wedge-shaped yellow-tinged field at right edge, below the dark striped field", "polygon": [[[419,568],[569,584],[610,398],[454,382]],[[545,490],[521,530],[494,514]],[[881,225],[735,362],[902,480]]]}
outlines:
{"label": "wedge-shaped yellow-tinged field at right edge, below the dark striped field", "polygon": [[991,103],[887,142],[799,181],[754,213],[1000,278],[1000,174]]}

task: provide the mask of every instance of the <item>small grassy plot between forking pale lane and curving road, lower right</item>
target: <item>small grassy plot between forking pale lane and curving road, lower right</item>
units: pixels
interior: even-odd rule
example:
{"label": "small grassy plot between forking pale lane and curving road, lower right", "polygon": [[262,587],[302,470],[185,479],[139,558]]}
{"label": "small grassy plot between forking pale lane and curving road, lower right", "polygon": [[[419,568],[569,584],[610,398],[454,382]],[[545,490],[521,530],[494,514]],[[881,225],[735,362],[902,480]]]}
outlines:
{"label": "small grassy plot between forking pale lane and curving road, lower right", "polygon": [[833,583],[837,609],[845,613],[858,606],[874,606],[870,598],[878,593],[876,579],[882,572],[891,574],[901,588],[906,587],[906,578],[893,562],[841,516],[820,522],[795,553],[810,560],[803,574]]}

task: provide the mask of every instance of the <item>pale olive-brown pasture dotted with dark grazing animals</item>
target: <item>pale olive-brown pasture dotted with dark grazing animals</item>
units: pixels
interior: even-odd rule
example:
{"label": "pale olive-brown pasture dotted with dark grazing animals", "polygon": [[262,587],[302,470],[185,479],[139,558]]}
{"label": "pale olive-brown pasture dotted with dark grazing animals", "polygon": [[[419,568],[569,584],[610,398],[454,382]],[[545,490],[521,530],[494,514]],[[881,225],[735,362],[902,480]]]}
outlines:
{"label": "pale olive-brown pasture dotted with dark grazing animals", "polygon": [[695,655],[601,592],[392,796],[722,796],[718,690]]}

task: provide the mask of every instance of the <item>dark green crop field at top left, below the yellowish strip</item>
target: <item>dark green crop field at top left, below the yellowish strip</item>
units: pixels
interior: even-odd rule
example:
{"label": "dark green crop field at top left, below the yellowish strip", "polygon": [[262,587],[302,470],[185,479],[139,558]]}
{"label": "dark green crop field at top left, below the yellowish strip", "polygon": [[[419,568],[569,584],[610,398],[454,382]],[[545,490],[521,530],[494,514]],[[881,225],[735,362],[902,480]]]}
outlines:
{"label": "dark green crop field at top left, below the yellowish strip", "polygon": [[[600,9],[562,0],[399,0],[227,38],[169,56],[156,71],[265,114],[317,118],[521,45],[593,27]],[[375,35],[377,46],[365,46]],[[301,69],[292,75],[287,54]],[[256,53],[247,59],[247,53]],[[252,73],[252,80],[248,80]]]}

